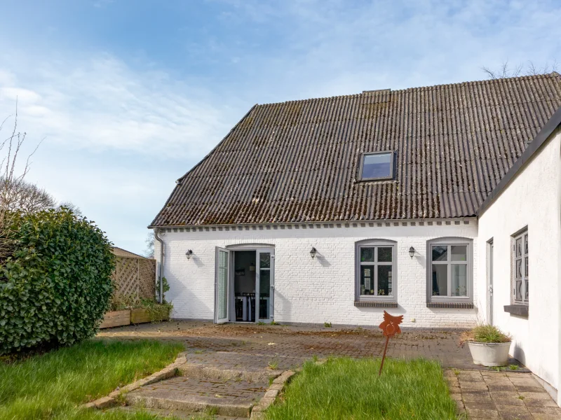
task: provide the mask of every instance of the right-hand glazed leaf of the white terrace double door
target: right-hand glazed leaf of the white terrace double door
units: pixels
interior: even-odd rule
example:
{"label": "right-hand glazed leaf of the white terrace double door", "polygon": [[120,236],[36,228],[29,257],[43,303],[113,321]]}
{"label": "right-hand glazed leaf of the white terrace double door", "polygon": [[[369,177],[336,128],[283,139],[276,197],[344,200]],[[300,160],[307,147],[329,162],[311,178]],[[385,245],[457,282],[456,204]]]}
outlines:
{"label": "right-hand glazed leaf of the white terrace double door", "polygon": [[257,300],[256,321],[273,321],[275,298],[275,251],[257,249],[255,297]]}

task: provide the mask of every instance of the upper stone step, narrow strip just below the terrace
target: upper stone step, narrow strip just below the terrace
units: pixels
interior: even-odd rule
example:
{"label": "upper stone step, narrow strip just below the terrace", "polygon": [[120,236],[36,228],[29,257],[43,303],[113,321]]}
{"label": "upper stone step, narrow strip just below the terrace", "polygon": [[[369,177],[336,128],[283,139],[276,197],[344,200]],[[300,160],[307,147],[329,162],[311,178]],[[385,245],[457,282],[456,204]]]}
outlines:
{"label": "upper stone step, narrow strip just below the terrace", "polygon": [[271,370],[267,368],[255,370],[238,370],[235,368],[215,367],[203,363],[183,363],[177,367],[179,374],[191,378],[201,379],[237,379],[250,382],[268,382],[283,373],[282,370]]}

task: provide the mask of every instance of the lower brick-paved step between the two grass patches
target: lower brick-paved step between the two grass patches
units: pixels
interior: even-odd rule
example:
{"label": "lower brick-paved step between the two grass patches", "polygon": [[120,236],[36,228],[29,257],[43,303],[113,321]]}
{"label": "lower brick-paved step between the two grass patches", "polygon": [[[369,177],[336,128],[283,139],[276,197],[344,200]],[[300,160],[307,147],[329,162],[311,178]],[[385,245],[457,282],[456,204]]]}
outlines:
{"label": "lower brick-paved step between the two grass patches", "polygon": [[268,385],[268,381],[244,381],[239,378],[174,377],[128,393],[126,402],[129,406],[147,409],[247,418]]}

